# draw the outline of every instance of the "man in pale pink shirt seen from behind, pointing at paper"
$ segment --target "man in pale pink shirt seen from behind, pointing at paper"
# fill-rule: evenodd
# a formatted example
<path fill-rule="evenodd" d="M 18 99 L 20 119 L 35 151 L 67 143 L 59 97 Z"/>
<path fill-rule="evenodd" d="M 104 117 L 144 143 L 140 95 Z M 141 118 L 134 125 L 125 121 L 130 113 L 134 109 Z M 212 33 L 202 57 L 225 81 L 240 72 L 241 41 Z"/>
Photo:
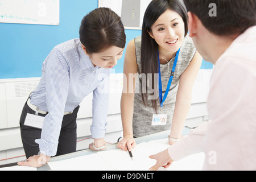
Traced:
<path fill-rule="evenodd" d="M 151 159 L 172 162 L 205 153 L 204 170 L 256 170 L 256 0 L 184 0 L 189 36 L 214 64 L 207 101 L 211 121 Z"/>

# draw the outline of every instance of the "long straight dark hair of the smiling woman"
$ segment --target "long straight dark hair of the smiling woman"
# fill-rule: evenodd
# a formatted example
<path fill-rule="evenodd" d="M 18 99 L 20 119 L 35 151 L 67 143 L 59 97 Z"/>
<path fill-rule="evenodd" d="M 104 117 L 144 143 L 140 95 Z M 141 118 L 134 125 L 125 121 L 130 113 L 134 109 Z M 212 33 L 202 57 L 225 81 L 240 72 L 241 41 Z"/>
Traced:
<path fill-rule="evenodd" d="M 181 16 L 184 22 L 185 35 L 188 33 L 188 16 L 185 7 L 180 2 L 180 0 L 153 0 L 150 5 L 148 5 L 146 12 L 144 14 L 143 24 L 142 24 L 142 43 L 141 43 L 141 64 L 142 73 L 148 76 L 148 73 L 158 73 L 158 44 L 155 39 L 152 39 L 148 32 L 151 32 L 152 24 L 156 22 L 160 15 L 162 15 L 167 9 L 175 11 Z M 152 86 L 154 89 L 154 76 L 152 76 Z M 147 89 L 147 86 L 146 86 Z M 155 89 L 154 89 L 155 90 Z M 147 92 L 141 93 L 144 105 L 147 105 Z M 157 102 L 159 100 L 151 100 L 151 104 L 157 111 Z"/>

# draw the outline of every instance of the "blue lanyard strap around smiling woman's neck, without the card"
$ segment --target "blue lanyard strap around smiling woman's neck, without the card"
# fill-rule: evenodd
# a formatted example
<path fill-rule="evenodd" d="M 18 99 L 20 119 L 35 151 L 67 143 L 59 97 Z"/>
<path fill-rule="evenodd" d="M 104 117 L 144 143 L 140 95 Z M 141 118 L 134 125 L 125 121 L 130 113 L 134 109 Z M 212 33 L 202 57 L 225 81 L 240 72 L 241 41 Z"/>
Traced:
<path fill-rule="evenodd" d="M 175 72 L 175 68 L 176 68 L 176 64 L 177 64 L 177 59 L 179 57 L 179 53 L 180 53 L 180 48 L 176 53 L 175 56 L 175 61 L 174 61 L 174 65 L 172 66 L 172 72 L 171 72 L 171 76 L 170 79 L 168 81 L 168 85 L 166 88 L 166 92 L 164 93 L 164 97 L 163 97 L 163 89 L 162 89 L 162 80 L 161 80 L 161 72 L 160 72 L 160 59 L 159 59 L 159 52 L 158 52 L 158 73 L 159 73 L 159 77 L 158 77 L 158 81 L 159 81 L 159 101 L 160 101 L 160 107 L 162 109 L 163 107 L 163 103 L 166 100 L 166 97 L 168 95 L 168 92 L 170 90 L 171 84 L 172 84 L 172 78 L 174 77 L 174 72 Z"/>

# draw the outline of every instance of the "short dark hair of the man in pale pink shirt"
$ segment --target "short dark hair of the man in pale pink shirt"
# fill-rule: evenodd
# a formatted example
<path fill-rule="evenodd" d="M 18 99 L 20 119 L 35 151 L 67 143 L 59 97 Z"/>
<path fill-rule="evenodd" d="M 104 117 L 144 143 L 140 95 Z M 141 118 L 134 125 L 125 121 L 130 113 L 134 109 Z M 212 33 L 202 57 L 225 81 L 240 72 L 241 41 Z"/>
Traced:
<path fill-rule="evenodd" d="M 233 36 L 256 25 L 256 0 L 184 0 L 188 11 L 198 16 L 213 34 Z M 209 15 L 216 5 L 216 15 Z"/>

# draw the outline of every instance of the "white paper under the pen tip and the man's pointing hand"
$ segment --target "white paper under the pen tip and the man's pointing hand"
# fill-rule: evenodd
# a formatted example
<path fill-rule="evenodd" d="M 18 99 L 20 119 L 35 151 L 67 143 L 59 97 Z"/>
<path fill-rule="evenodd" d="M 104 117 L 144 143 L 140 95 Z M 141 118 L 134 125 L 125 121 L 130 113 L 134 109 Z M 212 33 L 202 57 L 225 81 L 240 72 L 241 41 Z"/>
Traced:
<path fill-rule="evenodd" d="M 147 143 L 143 142 L 141 144 L 137 144 L 135 149 L 132 151 L 134 160 L 131 160 L 128 152 L 119 149 L 113 151 L 102 151 L 98 152 L 98 154 L 119 171 L 147 171 L 156 163 L 156 160 L 150 159 L 149 156 L 166 150 L 168 147 L 170 147 L 168 139 L 152 140 Z M 159 170 L 201 171 L 203 163 L 204 153 L 202 152 L 173 162 L 167 169 L 160 168 Z"/>

